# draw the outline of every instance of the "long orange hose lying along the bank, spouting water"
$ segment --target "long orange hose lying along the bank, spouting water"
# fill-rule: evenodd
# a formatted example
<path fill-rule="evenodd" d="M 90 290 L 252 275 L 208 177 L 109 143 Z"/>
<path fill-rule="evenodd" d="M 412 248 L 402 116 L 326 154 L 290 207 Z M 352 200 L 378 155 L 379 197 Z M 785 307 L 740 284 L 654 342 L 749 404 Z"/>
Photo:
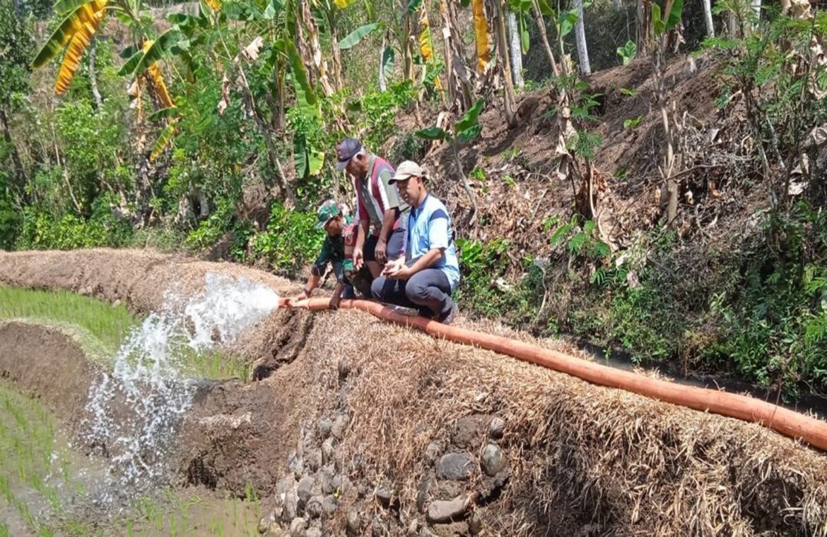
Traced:
<path fill-rule="evenodd" d="M 280 306 L 319 311 L 329 308 L 329 300 L 327 298 L 310 298 L 293 302 L 282 299 Z M 500 354 L 508 354 L 516 359 L 574 375 L 600 386 L 616 387 L 646 397 L 653 397 L 663 402 L 688 406 L 699 411 L 709 411 L 721 416 L 753 421 L 782 435 L 802 440 L 806 444 L 827 451 L 827 423 L 753 397 L 718 392 L 702 387 L 683 386 L 658 380 L 657 378 L 644 377 L 622 369 L 578 359 L 551 349 L 543 349 L 522 341 L 509 340 L 509 338 L 499 335 L 484 334 L 458 326 L 446 326 L 420 316 L 406 316 L 378 302 L 342 300 L 339 307 L 367 311 L 371 315 L 397 325 L 413 326 L 427 334 L 445 340 L 493 350 Z"/>

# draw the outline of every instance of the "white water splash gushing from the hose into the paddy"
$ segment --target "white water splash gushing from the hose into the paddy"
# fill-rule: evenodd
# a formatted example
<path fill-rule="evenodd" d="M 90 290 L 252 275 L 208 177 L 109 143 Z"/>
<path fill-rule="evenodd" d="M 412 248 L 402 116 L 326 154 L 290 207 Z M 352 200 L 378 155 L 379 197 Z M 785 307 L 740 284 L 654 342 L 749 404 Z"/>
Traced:
<path fill-rule="evenodd" d="M 278 304 L 270 288 L 217 273 L 185 303 L 166 293 L 161 310 L 128 335 L 112 373 L 90 388 L 85 440 L 110 459 L 110 485 L 141 491 L 167 475 L 175 432 L 197 387 L 179 370 L 181 354 L 231 344 Z"/>

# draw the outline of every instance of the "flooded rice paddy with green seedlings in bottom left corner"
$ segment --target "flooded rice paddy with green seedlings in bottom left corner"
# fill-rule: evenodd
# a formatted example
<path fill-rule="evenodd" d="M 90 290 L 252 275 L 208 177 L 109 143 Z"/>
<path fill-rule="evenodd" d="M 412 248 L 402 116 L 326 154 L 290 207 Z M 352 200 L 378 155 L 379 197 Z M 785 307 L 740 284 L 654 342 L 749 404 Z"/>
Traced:
<path fill-rule="evenodd" d="M 72 449 L 40 402 L 0 381 L 0 536 L 257 535 L 256 493 L 246 500 L 163 489 L 117 505 L 108 461 Z"/>

